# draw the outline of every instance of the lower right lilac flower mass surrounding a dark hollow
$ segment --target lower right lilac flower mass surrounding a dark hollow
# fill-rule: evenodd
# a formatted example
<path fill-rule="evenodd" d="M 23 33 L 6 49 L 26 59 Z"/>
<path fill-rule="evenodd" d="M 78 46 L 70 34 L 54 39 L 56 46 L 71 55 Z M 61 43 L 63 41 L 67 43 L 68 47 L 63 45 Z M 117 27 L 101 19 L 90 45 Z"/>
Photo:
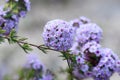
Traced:
<path fill-rule="evenodd" d="M 94 80 L 110 80 L 114 72 L 120 72 L 120 61 L 111 49 L 91 41 L 79 50 L 81 53 L 76 55 L 77 64 L 73 70 L 77 79 L 93 77 Z"/>

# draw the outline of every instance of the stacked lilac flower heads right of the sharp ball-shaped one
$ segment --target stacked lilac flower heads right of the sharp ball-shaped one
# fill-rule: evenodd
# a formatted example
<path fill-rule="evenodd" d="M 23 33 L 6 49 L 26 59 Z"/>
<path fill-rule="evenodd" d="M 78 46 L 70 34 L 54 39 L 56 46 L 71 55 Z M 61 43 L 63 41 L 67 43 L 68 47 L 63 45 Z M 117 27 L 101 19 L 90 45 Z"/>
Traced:
<path fill-rule="evenodd" d="M 73 75 L 76 79 L 92 77 L 94 80 L 110 80 L 114 72 L 119 72 L 118 56 L 99 44 L 102 29 L 95 23 L 81 24 L 76 29 L 75 40 L 70 54 L 75 55 Z"/>

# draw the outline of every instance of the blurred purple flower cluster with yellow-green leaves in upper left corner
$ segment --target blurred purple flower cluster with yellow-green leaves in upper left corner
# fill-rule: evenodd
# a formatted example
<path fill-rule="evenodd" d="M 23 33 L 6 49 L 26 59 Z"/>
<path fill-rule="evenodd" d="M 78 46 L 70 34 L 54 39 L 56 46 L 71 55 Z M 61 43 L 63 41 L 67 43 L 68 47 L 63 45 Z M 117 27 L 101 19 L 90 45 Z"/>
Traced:
<path fill-rule="evenodd" d="M 12 1 L 12 4 L 10 3 Z M 6 0 L 6 3 L 9 5 L 15 5 L 14 7 L 1 6 L 0 7 L 0 28 L 5 30 L 5 33 L 2 35 L 9 35 L 11 30 L 14 29 L 17 31 L 18 22 L 20 17 L 25 17 L 27 11 L 30 10 L 30 1 L 29 0 Z M 17 12 L 14 12 L 17 11 Z"/>

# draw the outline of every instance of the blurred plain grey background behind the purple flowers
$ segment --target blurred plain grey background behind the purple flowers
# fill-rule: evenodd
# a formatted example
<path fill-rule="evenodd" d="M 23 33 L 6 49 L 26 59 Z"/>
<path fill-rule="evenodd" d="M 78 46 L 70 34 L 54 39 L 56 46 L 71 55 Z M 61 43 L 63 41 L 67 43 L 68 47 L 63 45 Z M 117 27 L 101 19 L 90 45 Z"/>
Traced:
<path fill-rule="evenodd" d="M 0 5 L 4 2 L 0 0 Z M 27 37 L 28 42 L 43 44 L 41 34 L 49 20 L 59 18 L 70 21 L 86 16 L 103 29 L 103 47 L 111 48 L 120 56 L 120 0 L 31 0 L 31 5 L 31 11 L 21 19 L 18 30 L 18 35 Z M 58 73 L 59 68 L 65 69 L 67 66 L 58 57 L 59 53 L 50 51 L 46 55 L 38 49 L 34 49 L 33 53 L 38 54 L 45 66 L 55 73 Z M 0 44 L 0 76 L 14 73 L 25 60 L 26 53 L 18 45 L 9 45 L 7 41 Z M 66 79 L 59 74 L 58 80 Z M 114 74 L 111 80 L 120 80 L 120 77 Z"/>

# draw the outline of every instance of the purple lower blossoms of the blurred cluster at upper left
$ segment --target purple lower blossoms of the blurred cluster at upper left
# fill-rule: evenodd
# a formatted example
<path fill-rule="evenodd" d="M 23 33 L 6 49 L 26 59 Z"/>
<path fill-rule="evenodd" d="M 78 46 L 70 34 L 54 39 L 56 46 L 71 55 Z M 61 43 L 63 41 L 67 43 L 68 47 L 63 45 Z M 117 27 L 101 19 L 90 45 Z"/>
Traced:
<path fill-rule="evenodd" d="M 4 7 L 0 7 L 0 27 L 5 30 L 4 35 L 9 35 L 12 29 L 17 31 L 19 19 L 14 14 L 12 17 L 7 18 L 7 13 L 10 10 L 4 11 L 3 9 Z"/>

